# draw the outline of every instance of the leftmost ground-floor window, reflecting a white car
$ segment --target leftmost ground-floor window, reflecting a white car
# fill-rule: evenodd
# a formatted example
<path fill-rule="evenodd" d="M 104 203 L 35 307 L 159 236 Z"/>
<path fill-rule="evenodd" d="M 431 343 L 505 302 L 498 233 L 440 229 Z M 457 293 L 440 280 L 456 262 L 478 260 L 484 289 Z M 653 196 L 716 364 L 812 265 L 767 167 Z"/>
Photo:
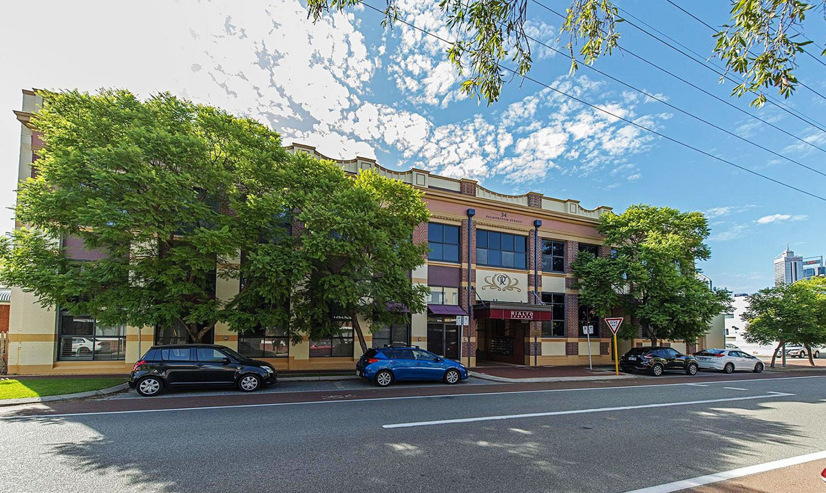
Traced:
<path fill-rule="evenodd" d="M 126 359 L 126 326 L 100 325 L 90 315 L 59 310 L 59 361 Z"/>

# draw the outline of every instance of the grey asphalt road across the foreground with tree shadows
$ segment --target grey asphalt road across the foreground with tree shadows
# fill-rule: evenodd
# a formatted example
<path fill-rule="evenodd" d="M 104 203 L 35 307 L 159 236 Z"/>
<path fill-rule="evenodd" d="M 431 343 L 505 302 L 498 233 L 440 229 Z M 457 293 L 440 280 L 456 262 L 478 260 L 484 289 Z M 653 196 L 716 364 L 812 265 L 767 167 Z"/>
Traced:
<path fill-rule="evenodd" d="M 826 449 L 823 374 L 304 386 L 0 410 L 0 491 L 621 492 Z"/>

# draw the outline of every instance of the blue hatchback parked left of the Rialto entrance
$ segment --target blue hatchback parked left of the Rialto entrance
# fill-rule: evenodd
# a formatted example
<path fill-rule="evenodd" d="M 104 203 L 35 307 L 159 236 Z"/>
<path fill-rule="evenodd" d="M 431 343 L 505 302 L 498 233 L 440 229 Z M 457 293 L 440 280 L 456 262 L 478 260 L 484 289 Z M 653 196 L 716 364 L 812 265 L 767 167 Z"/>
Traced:
<path fill-rule="evenodd" d="M 356 375 L 377 386 L 411 380 L 441 380 L 453 384 L 468 378 L 468 368 L 415 346 L 387 346 L 368 349 L 356 363 Z"/>

